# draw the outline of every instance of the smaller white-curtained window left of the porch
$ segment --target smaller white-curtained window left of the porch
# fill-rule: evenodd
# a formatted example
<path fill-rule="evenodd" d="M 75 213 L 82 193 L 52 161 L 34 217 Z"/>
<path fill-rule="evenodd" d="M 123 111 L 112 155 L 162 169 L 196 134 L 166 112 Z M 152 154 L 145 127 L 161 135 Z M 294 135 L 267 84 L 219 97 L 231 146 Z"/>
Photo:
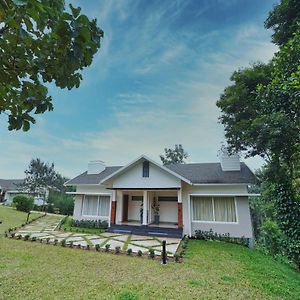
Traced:
<path fill-rule="evenodd" d="M 93 217 L 109 216 L 109 196 L 88 196 L 85 195 L 82 203 L 82 215 Z"/>

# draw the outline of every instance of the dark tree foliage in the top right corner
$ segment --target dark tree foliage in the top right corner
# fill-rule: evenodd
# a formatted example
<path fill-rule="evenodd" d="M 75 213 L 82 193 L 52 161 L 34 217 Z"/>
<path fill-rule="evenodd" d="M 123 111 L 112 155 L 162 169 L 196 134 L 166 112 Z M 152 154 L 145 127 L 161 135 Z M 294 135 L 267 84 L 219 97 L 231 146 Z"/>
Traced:
<path fill-rule="evenodd" d="M 300 1 L 282 0 L 269 12 L 265 27 L 273 29 L 273 42 L 279 46 L 284 45 L 293 33 L 296 32 L 300 22 Z"/>

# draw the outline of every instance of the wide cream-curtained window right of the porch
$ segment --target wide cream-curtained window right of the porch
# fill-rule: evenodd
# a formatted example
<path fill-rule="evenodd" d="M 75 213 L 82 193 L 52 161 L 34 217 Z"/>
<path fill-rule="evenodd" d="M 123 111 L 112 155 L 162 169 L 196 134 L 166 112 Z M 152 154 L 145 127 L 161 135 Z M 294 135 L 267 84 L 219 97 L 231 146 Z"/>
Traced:
<path fill-rule="evenodd" d="M 192 197 L 194 221 L 230 222 L 237 221 L 233 197 Z"/>

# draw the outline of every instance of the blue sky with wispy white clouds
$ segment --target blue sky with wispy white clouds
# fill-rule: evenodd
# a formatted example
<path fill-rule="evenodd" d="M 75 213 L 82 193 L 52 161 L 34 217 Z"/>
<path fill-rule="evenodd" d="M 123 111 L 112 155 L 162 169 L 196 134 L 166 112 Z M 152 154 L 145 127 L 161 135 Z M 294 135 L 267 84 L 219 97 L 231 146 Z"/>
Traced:
<path fill-rule="evenodd" d="M 22 178 L 32 158 L 74 177 L 90 160 L 159 161 L 182 144 L 188 162 L 218 161 L 216 107 L 233 71 L 277 51 L 263 23 L 275 0 L 72 1 L 104 30 L 78 89 L 49 87 L 54 111 L 29 132 L 0 115 L 0 178 Z M 252 170 L 260 158 L 243 159 Z"/>

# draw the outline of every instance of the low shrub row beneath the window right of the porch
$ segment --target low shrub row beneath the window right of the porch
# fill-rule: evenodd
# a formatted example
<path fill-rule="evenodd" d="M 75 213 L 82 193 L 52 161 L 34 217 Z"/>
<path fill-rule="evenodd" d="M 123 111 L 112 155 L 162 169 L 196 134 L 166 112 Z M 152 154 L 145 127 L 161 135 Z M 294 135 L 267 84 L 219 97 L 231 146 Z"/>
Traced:
<path fill-rule="evenodd" d="M 209 231 L 204 230 L 195 230 L 195 236 L 197 240 L 204 240 L 204 241 L 222 241 L 227 243 L 238 244 L 242 246 L 248 245 L 248 240 L 245 237 L 236 238 L 231 237 L 229 233 L 220 234 L 214 232 L 212 229 Z"/>

